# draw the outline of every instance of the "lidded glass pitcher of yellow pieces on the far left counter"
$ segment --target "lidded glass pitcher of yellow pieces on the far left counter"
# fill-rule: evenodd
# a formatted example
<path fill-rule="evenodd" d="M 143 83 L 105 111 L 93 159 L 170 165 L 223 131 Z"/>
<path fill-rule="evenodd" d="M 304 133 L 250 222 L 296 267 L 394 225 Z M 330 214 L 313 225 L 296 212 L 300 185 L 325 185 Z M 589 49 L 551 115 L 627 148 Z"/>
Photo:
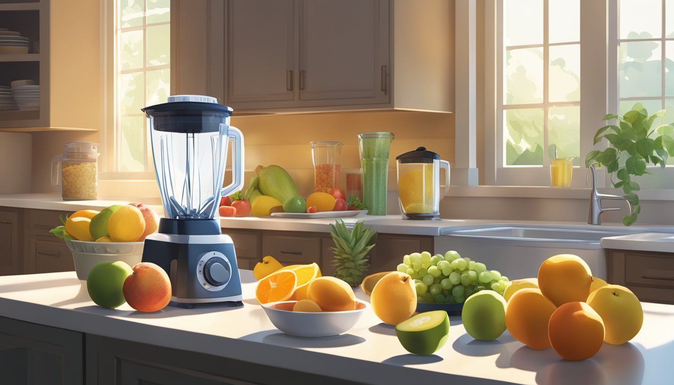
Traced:
<path fill-rule="evenodd" d="M 70 142 L 51 160 L 51 184 L 63 200 L 98 199 L 98 143 Z"/>

